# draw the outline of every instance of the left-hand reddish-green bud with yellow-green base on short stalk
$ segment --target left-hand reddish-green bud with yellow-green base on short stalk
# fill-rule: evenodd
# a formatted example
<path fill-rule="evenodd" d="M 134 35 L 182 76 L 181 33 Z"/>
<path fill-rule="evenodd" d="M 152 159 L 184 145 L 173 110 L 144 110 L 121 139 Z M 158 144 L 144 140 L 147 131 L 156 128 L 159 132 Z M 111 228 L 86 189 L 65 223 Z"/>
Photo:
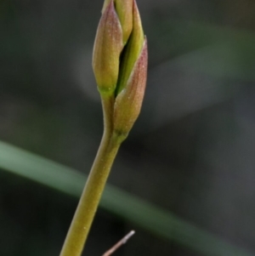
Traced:
<path fill-rule="evenodd" d="M 114 93 L 122 48 L 122 26 L 111 0 L 99 21 L 94 43 L 93 69 L 100 94 Z"/>

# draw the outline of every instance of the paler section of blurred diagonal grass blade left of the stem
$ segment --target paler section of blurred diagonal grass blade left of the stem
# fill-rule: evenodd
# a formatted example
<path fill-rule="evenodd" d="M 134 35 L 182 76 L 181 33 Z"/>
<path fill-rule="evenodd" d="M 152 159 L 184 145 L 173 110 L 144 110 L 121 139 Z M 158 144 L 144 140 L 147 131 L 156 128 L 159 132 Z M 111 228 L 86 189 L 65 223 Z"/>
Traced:
<path fill-rule="evenodd" d="M 80 196 L 87 176 L 75 169 L 0 141 L 0 168 L 71 196 Z"/>

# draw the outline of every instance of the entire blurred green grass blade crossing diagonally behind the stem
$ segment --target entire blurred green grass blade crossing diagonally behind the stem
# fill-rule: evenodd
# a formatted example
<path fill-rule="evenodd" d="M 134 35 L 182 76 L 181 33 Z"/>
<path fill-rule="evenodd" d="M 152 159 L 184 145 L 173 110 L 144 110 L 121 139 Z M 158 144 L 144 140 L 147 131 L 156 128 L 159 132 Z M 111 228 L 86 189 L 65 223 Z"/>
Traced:
<path fill-rule="evenodd" d="M 2 141 L 0 141 L 0 168 L 77 197 L 81 195 L 87 178 L 75 169 Z M 163 236 L 203 255 L 253 255 L 112 185 L 106 186 L 100 206 L 158 236 Z"/>

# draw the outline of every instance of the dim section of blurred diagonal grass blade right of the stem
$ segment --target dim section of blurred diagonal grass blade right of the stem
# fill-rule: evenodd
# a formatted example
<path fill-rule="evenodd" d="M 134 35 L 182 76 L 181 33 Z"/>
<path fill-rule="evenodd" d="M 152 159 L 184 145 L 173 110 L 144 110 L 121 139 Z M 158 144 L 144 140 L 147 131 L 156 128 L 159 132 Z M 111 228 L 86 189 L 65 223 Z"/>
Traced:
<path fill-rule="evenodd" d="M 111 212 L 202 255 L 253 255 L 241 247 L 231 245 L 218 236 L 178 218 L 173 213 L 157 208 L 153 204 L 144 202 L 138 197 L 117 190 L 112 186 L 105 190 L 103 199 L 101 205 Z"/>

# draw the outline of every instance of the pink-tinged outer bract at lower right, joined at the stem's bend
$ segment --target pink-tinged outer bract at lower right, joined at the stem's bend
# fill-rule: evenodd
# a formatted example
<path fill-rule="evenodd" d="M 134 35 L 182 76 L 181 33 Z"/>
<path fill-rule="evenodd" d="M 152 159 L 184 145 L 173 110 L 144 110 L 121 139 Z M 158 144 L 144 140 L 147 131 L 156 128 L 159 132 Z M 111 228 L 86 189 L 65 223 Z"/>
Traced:
<path fill-rule="evenodd" d="M 133 127 L 133 123 L 139 116 L 144 99 L 144 89 L 147 78 L 148 51 L 147 40 L 144 39 L 143 48 L 139 58 L 133 66 L 131 76 L 122 92 L 116 96 L 114 105 L 114 131 L 123 139 Z"/>

